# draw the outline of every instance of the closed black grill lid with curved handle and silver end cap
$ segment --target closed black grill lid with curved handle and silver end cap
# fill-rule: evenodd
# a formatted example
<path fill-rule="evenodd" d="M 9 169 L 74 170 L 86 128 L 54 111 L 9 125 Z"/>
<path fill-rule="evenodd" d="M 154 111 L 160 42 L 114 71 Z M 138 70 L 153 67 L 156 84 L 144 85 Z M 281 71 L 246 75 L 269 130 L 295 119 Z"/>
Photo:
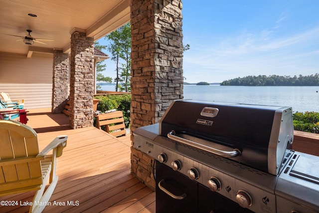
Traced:
<path fill-rule="evenodd" d="M 160 135 L 278 175 L 293 142 L 291 107 L 175 101 Z"/>

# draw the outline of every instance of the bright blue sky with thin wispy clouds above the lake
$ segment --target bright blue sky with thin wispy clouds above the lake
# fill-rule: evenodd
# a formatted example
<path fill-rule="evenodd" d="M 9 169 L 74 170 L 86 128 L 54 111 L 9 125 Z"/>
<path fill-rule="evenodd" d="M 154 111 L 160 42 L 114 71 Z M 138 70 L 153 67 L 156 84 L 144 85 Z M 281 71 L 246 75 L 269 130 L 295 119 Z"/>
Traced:
<path fill-rule="evenodd" d="M 319 0 L 182 2 L 185 82 L 319 73 Z M 105 63 L 114 78 L 115 62 Z"/>

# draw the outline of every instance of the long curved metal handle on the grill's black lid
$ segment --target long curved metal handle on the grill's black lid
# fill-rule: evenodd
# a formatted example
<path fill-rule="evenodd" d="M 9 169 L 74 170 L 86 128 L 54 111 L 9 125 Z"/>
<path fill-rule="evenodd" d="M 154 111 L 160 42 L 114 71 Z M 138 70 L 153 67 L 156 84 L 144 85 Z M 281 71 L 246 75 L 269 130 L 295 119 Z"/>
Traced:
<path fill-rule="evenodd" d="M 177 141 L 179 143 L 186 144 L 188 146 L 195 147 L 195 148 L 204 150 L 206 152 L 209 152 L 209 153 L 212 153 L 212 154 L 224 157 L 224 158 L 234 158 L 234 157 L 240 156 L 240 154 L 241 154 L 239 149 L 234 149 L 233 151 L 218 150 L 218 149 L 214 149 L 212 147 L 205 146 L 203 144 L 196 143 L 194 141 L 190 141 L 190 140 L 175 136 L 175 134 L 176 134 L 175 131 L 172 130 L 171 132 L 167 133 L 167 137 L 169 139 Z"/>

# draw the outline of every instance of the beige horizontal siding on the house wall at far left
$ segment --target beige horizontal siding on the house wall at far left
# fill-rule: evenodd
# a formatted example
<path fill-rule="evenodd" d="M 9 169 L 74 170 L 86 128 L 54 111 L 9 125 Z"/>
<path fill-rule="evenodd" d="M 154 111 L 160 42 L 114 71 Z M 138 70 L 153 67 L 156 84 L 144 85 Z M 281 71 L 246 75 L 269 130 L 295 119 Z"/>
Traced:
<path fill-rule="evenodd" d="M 53 54 L 0 52 L 0 92 L 24 99 L 27 109 L 51 107 Z M 27 74 L 26 74 L 27 73 Z"/>

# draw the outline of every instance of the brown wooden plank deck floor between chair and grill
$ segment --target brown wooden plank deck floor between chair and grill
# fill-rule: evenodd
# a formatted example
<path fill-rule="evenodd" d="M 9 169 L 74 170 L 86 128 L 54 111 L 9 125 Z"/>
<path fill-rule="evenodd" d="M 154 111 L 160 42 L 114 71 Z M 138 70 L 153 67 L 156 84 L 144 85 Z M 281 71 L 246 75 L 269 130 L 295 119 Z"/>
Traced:
<path fill-rule="evenodd" d="M 73 130 L 64 114 L 29 111 L 27 124 L 38 133 L 40 150 L 56 136 L 68 135 L 58 158 L 59 180 L 43 212 L 155 213 L 155 193 L 131 175 L 130 135 L 115 138 L 95 127 Z M 0 206 L 0 213 L 28 212 L 20 202 L 31 202 L 34 193 L 1 197 L 18 205 Z"/>

